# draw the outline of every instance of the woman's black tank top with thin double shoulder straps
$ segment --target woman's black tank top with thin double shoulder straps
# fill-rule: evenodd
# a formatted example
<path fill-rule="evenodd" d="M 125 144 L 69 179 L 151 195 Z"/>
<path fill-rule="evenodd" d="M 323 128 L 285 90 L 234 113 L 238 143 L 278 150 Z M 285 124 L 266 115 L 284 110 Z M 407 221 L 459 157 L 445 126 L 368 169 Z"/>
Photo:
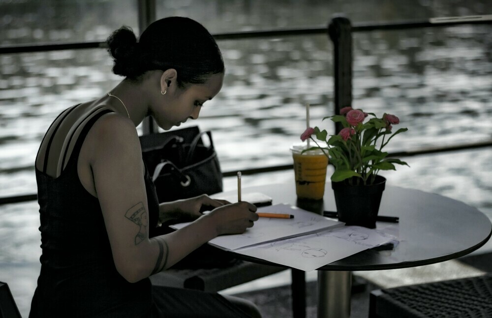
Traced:
<path fill-rule="evenodd" d="M 30 318 L 150 315 L 149 278 L 132 284 L 118 273 L 99 201 L 83 187 L 77 173 L 85 137 L 94 122 L 109 112 L 104 110 L 87 122 L 60 176 L 53 178 L 36 169 L 42 255 Z M 147 168 L 145 185 L 153 229 L 158 201 Z"/>

